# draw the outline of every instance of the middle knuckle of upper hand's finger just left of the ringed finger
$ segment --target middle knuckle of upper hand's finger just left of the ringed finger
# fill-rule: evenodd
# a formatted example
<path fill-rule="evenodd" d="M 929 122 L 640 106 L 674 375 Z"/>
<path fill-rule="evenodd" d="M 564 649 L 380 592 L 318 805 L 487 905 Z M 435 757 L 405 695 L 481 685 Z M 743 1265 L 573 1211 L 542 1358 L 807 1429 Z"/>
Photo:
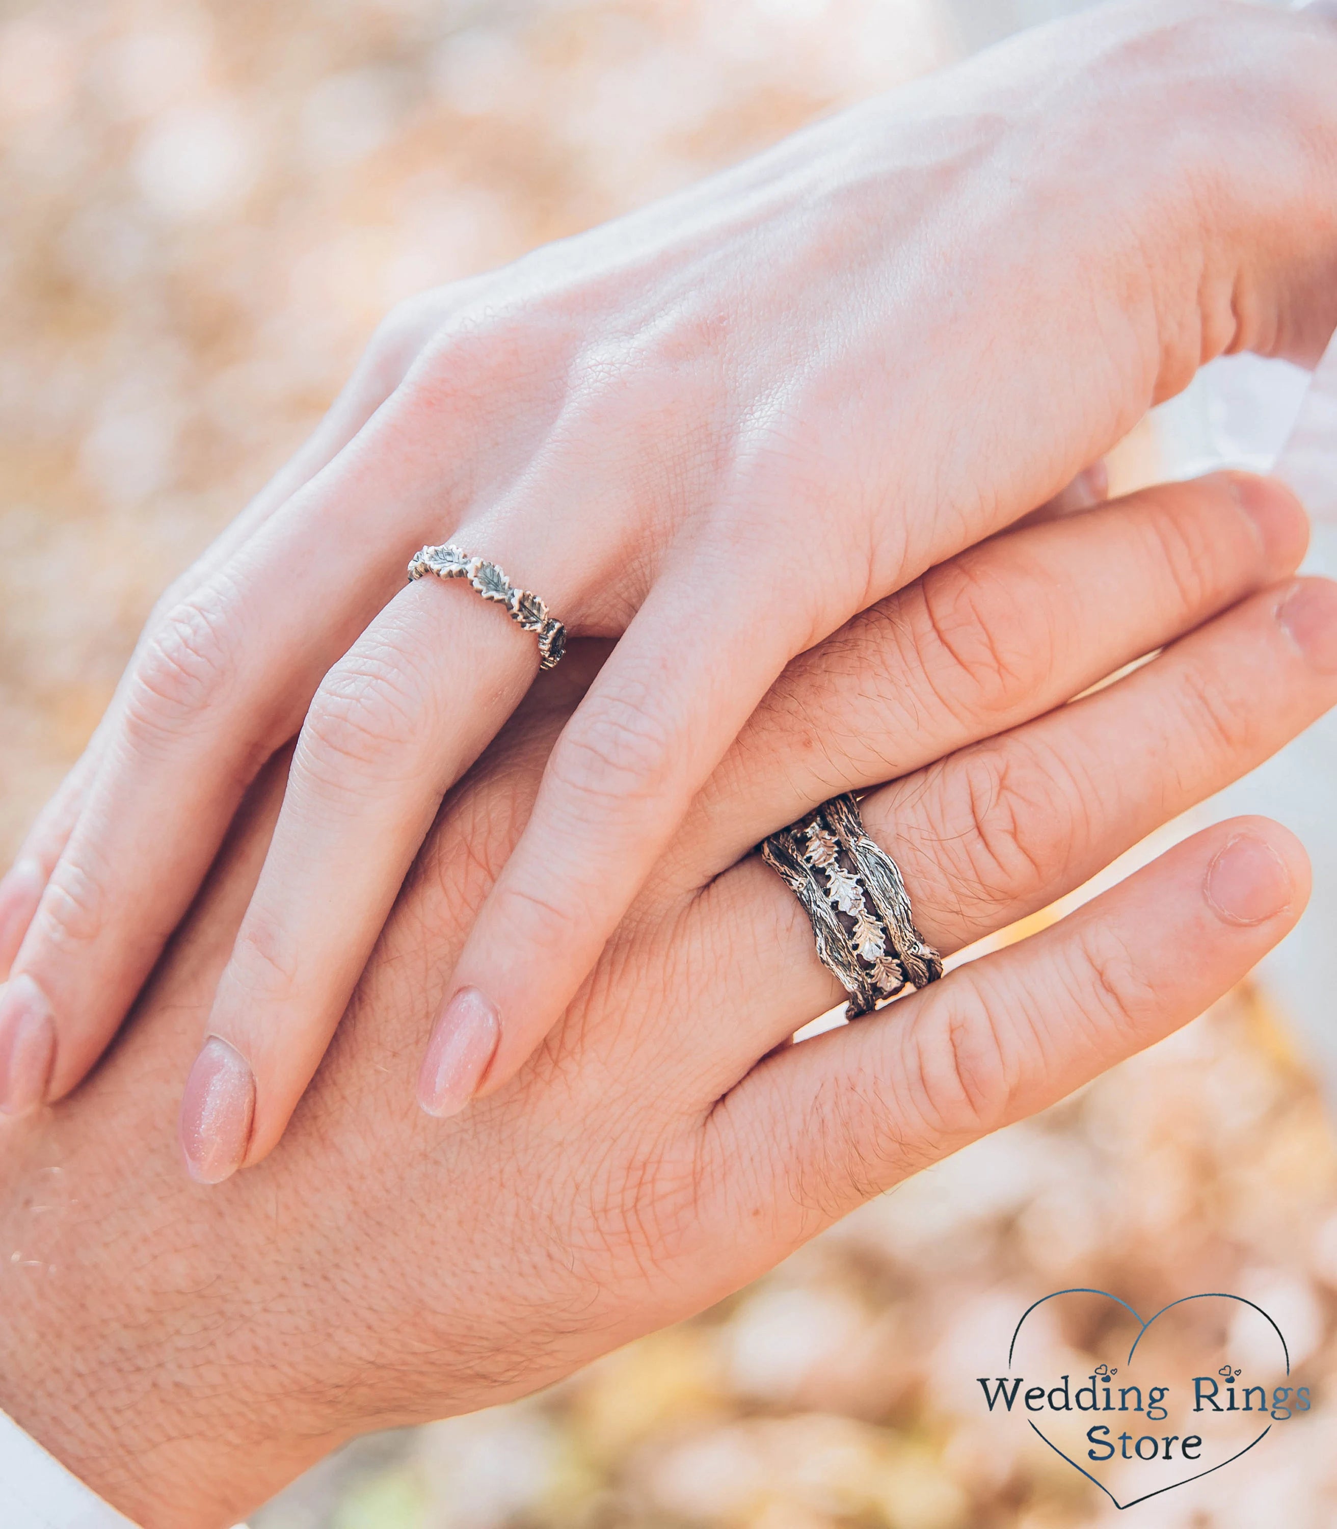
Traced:
<path fill-rule="evenodd" d="M 214 703 L 234 673 L 222 605 L 200 595 L 173 605 L 134 665 L 125 719 L 133 737 L 176 732 Z"/>

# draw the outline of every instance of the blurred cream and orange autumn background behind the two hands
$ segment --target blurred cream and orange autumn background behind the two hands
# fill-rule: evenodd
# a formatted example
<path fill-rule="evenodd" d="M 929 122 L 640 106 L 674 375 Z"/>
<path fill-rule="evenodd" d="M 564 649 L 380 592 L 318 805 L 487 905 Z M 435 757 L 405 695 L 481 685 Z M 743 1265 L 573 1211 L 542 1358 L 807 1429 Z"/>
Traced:
<path fill-rule="evenodd" d="M 0 862 L 156 593 L 393 301 L 1071 8 L 3 0 Z M 1148 420 L 1115 486 L 1274 450 L 1303 379 L 1259 367 L 1215 368 Z M 1268 780 L 1302 832 L 1337 821 L 1313 769 Z M 1089 1483 L 970 1394 L 1016 1315 L 1071 1284 L 1143 1310 L 1248 1295 L 1319 1388 L 1274 1448 L 1146 1505 L 1144 1526 L 1332 1523 L 1331 928 L 1311 916 L 1274 974 L 724 1306 L 527 1402 L 362 1440 L 252 1529 L 1105 1524 Z"/>

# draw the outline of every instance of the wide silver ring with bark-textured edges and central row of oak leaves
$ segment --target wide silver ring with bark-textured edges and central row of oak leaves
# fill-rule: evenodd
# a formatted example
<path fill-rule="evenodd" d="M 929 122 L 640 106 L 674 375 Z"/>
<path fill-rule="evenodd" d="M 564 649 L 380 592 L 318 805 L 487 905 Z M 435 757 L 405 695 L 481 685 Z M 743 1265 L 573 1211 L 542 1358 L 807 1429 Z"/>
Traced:
<path fill-rule="evenodd" d="M 802 904 L 822 965 L 850 994 L 847 1018 L 943 976 L 943 957 L 915 928 L 900 868 L 868 836 L 854 797 L 833 797 L 772 833 L 761 858 Z"/>

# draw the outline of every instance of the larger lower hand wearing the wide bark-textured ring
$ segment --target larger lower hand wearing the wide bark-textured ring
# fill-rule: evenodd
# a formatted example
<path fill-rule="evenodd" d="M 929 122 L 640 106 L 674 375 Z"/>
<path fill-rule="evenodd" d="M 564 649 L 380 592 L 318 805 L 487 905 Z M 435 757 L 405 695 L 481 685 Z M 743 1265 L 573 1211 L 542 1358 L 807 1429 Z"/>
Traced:
<path fill-rule="evenodd" d="M 1303 546 L 1284 489 L 1227 476 L 995 538 L 880 602 L 767 694 L 516 1078 L 434 1119 L 411 1079 L 607 654 L 578 645 L 446 800 L 283 1148 L 206 1188 L 179 1168 L 177 1087 L 277 761 L 104 1064 L 5 1125 L 0 1407 L 147 1529 L 220 1529 L 356 1433 L 700 1310 L 1192 1018 L 1303 907 L 1303 852 L 1264 820 L 788 1047 L 839 994 L 750 846 L 889 780 L 865 821 L 932 942 L 1042 907 L 1337 700 L 1337 587 L 1291 576 Z"/>

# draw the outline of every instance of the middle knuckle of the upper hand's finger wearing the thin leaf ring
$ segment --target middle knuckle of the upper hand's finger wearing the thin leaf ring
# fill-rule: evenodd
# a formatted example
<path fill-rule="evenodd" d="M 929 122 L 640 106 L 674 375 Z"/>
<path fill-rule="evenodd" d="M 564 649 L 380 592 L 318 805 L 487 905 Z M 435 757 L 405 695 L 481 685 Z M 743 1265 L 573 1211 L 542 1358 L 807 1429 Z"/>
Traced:
<path fill-rule="evenodd" d="M 324 784 L 339 783 L 347 766 L 374 771 L 384 781 L 396 760 L 408 771 L 419 735 L 420 706 L 397 662 L 353 653 L 321 680 L 303 725 L 296 764 Z"/>

